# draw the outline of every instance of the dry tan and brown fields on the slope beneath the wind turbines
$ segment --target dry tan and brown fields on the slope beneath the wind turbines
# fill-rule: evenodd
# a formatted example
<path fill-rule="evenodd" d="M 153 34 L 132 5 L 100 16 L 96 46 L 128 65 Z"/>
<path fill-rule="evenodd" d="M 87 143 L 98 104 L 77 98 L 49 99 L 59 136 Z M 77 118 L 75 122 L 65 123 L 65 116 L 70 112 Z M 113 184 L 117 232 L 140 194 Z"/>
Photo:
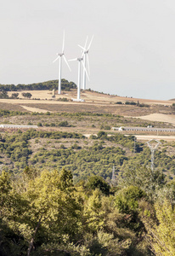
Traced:
<path fill-rule="evenodd" d="M 31 90 L 32 98 L 24 99 L 21 95 L 23 91 L 20 91 L 21 99 L 9 100 L 1 99 L 0 108 L 9 110 L 20 110 L 46 113 L 50 112 L 91 112 L 91 113 L 113 113 L 116 115 L 122 115 L 126 117 L 138 117 L 140 119 L 150 121 L 161 121 L 175 124 L 175 119 L 172 115 L 172 103 L 175 101 L 157 101 L 147 99 L 137 99 L 121 96 L 110 96 L 101 94 L 94 91 L 82 90 L 81 97 L 85 102 L 71 102 L 71 98 L 76 98 L 76 90 L 62 92 L 61 95 L 57 95 L 55 99 L 52 99 L 52 91 L 50 90 Z M 8 95 L 14 93 L 8 92 Z M 66 97 L 70 102 L 59 102 L 59 98 Z M 40 100 L 34 100 L 39 98 Z M 150 108 L 139 108 L 131 105 L 118 105 L 116 102 L 138 102 L 149 104 Z M 155 114 L 156 113 L 156 114 Z"/>

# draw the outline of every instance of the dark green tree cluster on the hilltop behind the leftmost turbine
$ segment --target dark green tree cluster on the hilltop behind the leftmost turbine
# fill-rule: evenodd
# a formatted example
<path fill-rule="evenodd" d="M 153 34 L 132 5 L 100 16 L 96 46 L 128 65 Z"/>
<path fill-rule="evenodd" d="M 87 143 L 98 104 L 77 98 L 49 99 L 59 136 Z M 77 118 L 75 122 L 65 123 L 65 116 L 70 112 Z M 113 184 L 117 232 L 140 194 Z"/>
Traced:
<path fill-rule="evenodd" d="M 50 80 L 42 83 L 35 84 L 0 84 L 0 91 L 16 91 L 16 90 L 57 90 L 59 80 Z M 76 88 L 76 84 L 69 82 L 65 79 L 61 79 L 61 89 L 71 90 Z"/>

